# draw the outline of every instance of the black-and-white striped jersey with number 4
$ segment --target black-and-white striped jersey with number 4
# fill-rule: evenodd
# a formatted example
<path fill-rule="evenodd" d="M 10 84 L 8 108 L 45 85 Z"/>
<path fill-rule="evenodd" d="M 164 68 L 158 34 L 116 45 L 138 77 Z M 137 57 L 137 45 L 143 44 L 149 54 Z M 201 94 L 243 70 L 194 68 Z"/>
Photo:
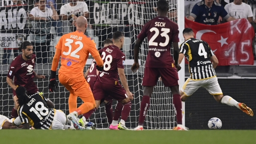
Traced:
<path fill-rule="evenodd" d="M 200 80 L 216 76 L 210 61 L 214 53 L 208 43 L 190 38 L 180 45 L 179 53 L 183 53 L 189 61 L 191 79 Z"/>

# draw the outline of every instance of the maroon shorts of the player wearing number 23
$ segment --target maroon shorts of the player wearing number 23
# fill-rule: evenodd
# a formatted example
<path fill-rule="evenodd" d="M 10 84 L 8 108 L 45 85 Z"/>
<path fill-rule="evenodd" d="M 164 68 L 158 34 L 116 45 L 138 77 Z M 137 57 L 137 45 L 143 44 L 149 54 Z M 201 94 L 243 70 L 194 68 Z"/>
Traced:
<path fill-rule="evenodd" d="M 156 86 L 161 76 L 164 86 L 178 86 L 178 72 L 175 68 L 145 67 L 142 86 Z"/>

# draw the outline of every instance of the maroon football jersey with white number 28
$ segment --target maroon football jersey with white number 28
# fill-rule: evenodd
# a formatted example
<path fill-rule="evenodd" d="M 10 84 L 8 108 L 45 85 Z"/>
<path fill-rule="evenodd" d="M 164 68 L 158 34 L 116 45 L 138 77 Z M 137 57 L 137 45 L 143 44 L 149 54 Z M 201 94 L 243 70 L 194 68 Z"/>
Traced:
<path fill-rule="evenodd" d="M 104 70 L 98 73 L 98 82 L 117 85 L 118 70 L 124 69 L 125 54 L 115 45 L 109 45 L 99 50 L 99 54 L 104 62 Z"/>

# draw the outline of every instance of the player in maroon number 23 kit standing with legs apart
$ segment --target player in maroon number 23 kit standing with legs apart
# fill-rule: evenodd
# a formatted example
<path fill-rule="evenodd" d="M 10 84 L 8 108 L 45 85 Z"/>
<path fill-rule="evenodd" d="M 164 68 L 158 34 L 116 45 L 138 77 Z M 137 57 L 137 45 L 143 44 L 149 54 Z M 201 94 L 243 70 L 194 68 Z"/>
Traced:
<path fill-rule="evenodd" d="M 139 47 L 145 37 L 148 39 L 148 55 L 145 63 L 143 83 L 144 93 L 141 102 L 139 125 L 135 130 L 143 130 L 146 112 L 149 109 L 150 98 L 154 86 L 157 85 L 159 76 L 164 86 L 171 88 L 173 103 L 176 109 L 177 127 L 174 130 L 187 130 L 182 126 L 181 100 L 179 95 L 178 73 L 178 26 L 167 18 L 168 3 L 166 0 L 157 2 L 158 16 L 147 22 L 134 44 L 134 64 L 132 72 L 139 69 L 138 55 Z M 171 55 L 171 45 L 173 43 L 173 56 Z"/>

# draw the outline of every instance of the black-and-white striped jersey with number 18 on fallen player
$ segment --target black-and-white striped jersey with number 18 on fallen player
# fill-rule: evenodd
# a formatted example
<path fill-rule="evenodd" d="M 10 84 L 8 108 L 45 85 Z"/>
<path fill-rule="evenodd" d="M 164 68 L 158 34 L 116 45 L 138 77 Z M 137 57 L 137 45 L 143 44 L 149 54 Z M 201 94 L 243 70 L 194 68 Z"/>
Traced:
<path fill-rule="evenodd" d="M 29 123 L 35 129 L 50 129 L 55 109 L 48 108 L 47 99 L 36 93 L 29 96 L 30 101 L 18 108 L 21 124 Z"/>

